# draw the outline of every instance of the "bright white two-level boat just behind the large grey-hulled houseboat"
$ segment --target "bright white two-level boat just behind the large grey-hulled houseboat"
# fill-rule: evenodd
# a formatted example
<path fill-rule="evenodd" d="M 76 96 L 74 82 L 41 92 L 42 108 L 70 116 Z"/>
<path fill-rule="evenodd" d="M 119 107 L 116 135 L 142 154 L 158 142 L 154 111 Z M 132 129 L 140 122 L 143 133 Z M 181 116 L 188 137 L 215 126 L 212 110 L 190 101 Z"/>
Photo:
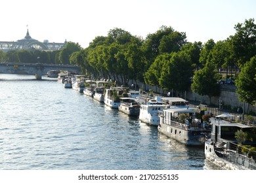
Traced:
<path fill-rule="evenodd" d="M 167 108 L 162 101 L 150 99 L 146 104 L 140 105 L 139 120 L 149 125 L 158 126 L 160 124 L 159 111 Z"/>

